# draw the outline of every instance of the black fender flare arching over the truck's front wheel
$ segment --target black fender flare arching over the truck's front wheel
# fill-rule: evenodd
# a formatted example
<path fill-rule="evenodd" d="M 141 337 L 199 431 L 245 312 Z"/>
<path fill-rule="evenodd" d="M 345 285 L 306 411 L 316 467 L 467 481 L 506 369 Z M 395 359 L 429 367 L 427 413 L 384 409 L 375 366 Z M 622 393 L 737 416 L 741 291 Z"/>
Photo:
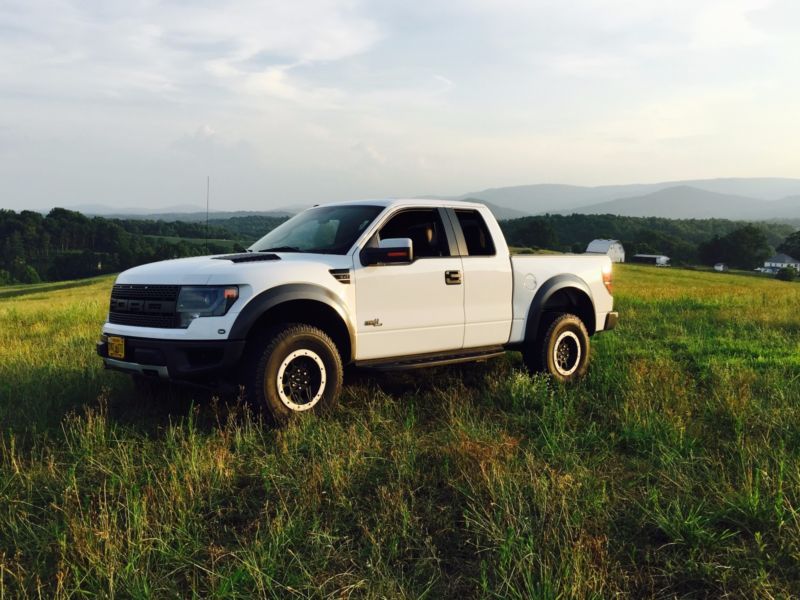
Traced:
<path fill-rule="evenodd" d="M 253 297 L 241 310 L 233 322 L 229 339 L 244 340 L 253 325 L 271 308 L 293 300 L 312 300 L 332 308 L 347 328 L 350 337 L 350 360 L 355 356 L 355 327 L 342 299 L 331 290 L 311 283 L 287 283 L 261 292 Z M 345 357 L 348 358 L 348 357 Z"/>

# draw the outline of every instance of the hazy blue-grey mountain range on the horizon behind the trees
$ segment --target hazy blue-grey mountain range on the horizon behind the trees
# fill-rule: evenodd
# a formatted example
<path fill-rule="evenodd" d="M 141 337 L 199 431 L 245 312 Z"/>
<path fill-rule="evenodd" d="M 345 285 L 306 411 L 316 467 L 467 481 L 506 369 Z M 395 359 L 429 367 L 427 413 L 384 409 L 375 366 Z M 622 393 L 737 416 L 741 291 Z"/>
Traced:
<path fill-rule="evenodd" d="M 535 184 L 490 188 L 447 198 L 484 202 L 498 219 L 515 219 L 544 213 L 608 213 L 673 219 L 773 220 L 793 224 L 800 220 L 800 179 L 788 178 L 692 179 L 596 187 Z M 267 211 L 212 211 L 211 217 L 283 217 L 295 214 L 303 208 L 306 207 L 288 206 Z M 71 209 L 88 215 L 129 219 L 202 221 L 206 218 L 203 208 L 196 205 L 169 206 L 158 211 L 120 209 L 98 204 L 75 206 Z"/>

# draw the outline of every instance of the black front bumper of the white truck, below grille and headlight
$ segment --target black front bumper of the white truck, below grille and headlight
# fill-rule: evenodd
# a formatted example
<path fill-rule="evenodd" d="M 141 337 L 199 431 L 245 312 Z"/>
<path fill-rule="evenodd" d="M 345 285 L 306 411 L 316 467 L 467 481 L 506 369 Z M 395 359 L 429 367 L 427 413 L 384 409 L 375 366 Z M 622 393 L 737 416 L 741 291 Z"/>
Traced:
<path fill-rule="evenodd" d="M 108 334 L 97 342 L 107 369 L 173 381 L 203 381 L 232 371 L 244 352 L 244 340 L 175 341 L 125 337 L 125 355 L 108 355 Z"/>

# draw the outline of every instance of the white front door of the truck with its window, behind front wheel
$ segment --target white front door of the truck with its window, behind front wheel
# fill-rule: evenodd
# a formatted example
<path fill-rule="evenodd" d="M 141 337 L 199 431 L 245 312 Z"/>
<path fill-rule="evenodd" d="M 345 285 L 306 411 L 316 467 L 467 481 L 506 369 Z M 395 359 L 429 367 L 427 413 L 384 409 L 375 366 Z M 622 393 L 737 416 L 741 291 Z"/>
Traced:
<path fill-rule="evenodd" d="M 446 216 L 446 215 L 445 215 Z M 410 264 L 364 266 L 354 257 L 356 359 L 456 351 L 464 343 L 464 285 L 454 240 L 436 208 L 399 209 L 367 245 L 410 238 Z"/>

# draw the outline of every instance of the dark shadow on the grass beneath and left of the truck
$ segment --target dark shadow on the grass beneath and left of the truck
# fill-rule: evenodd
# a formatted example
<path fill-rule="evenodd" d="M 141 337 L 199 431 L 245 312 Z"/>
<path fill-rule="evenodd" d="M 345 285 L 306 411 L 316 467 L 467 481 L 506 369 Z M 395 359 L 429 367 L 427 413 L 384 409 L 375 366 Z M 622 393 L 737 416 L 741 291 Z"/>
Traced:
<path fill-rule="evenodd" d="M 518 368 L 517 362 L 509 355 L 487 362 L 409 371 L 348 369 L 340 405 L 324 418 L 347 419 L 347 412 L 361 410 L 381 397 L 413 401 L 424 409 L 434 403 L 416 399 L 434 398 L 437 392 L 449 393 L 456 388 L 485 389 L 492 380 Z M 111 422 L 147 437 L 162 435 L 164 428 L 189 415 L 205 431 L 243 410 L 250 411 L 265 427 L 271 425 L 261 407 L 250 406 L 240 394 L 220 395 L 169 384 L 148 392 L 137 389 L 125 375 L 97 369 L 41 366 L 29 369 L 23 378 L 0 383 L 2 431 L 20 440 L 39 433 L 58 435 L 69 415 L 97 409 L 103 410 Z"/>

